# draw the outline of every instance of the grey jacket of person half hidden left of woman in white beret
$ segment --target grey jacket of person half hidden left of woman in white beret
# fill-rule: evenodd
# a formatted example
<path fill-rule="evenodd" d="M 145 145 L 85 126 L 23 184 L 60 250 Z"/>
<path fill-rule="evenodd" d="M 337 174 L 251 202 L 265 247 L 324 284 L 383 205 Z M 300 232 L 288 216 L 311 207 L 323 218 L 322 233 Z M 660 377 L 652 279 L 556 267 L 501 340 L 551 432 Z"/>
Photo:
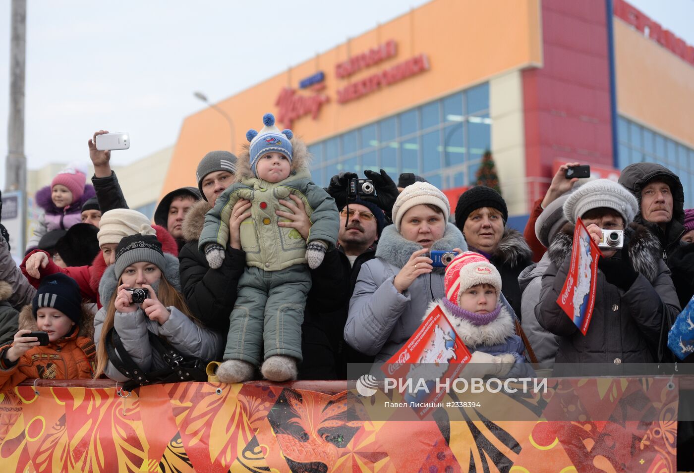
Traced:
<path fill-rule="evenodd" d="M 541 365 L 551 365 L 557 356 L 559 336 L 543 329 L 535 316 L 535 307 L 540 303 L 540 290 L 542 288 L 542 275 L 550 266 L 550 255 L 545 253 L 540 261 L 525 268 L 518 275 L 518 284 L 521 286 L 521 327 L 530 342 L 530 347 L 535 353 L 537 362 Z"/>

